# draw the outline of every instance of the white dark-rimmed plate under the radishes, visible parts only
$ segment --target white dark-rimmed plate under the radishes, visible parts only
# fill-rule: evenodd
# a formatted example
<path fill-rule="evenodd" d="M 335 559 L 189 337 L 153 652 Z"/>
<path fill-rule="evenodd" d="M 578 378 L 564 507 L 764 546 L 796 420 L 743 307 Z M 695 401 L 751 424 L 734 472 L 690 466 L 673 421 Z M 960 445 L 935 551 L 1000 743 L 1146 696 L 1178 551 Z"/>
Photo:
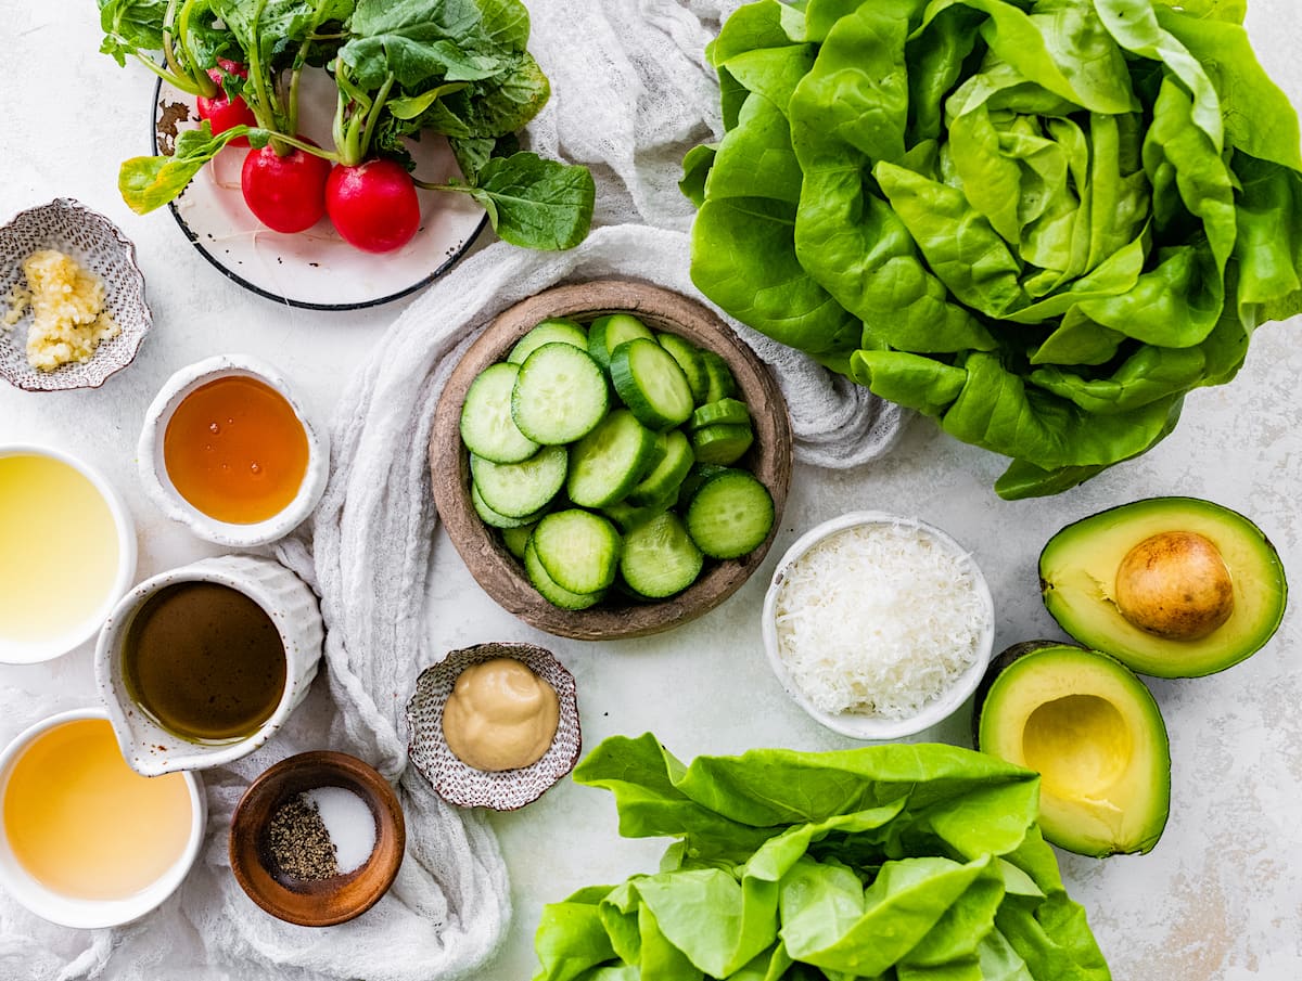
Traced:
<path fill-rule="evenodd" d="M 320 70 L 303 73 L 299 129 L 331 146 L 335 86 Z M 161 81 L 155 87 L 150 139 L 156 152 L 174 133 L 198 125 L 194 98 Z M 374 255 L 354 249 L 323 217 L 312 228 L 283 234 L 263 226 L 240 191 L 243 147 L 227 147 L 169 206 L 194 247 L 225 276 L 270 299 L 309 310 L 372 307 L 421 289 L 449 268 L 487 224 L 466 194 L 417 190 L 421 230 L 402 249 Z M 411 144 L 415 173 L 424 181 L 461 177 L 443 137 Z"/>

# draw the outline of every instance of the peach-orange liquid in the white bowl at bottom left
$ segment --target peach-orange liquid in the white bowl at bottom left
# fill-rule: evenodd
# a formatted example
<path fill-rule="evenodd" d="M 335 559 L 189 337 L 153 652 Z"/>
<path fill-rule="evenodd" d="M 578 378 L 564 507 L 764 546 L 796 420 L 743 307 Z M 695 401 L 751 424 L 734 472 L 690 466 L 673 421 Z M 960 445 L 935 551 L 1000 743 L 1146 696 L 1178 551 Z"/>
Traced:
<path fill-rule="evenodd" d="M 126 899 L 156 882 L 185 853 L 193 817 L 185 777 L 141 777 L 103 718 L 35 736 L 4 788 L 14 859 L 74 899 Z"/>

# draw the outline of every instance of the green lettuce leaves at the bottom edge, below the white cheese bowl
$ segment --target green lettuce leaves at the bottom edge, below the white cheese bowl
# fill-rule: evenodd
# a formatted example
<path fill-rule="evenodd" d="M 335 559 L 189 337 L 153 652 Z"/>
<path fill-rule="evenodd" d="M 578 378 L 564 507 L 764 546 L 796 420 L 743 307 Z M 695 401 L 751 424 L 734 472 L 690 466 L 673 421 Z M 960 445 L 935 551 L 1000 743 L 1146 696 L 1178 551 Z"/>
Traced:
<path fill-rule="evenodd" d="M 755 749 L 684 766 L 651 734 L 574 779 L 660 872 L 544 908 L 535 981 L 1108 981 L 1036 825 L 1039 777 L 949 746 Z"/>

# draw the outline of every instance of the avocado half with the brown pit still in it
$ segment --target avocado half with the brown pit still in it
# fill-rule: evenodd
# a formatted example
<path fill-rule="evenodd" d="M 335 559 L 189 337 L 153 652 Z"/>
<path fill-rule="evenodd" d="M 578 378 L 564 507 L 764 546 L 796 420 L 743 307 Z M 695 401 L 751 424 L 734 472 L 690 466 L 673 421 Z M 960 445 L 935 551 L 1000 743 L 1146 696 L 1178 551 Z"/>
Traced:
<path fill-rule="evenodd" d="M 1217 570 L 1189 563 L 1187 576 L 1172 580 L 1160 610 L 1165 618 L 1137 626 L 1118 605 L 1118 571 L 1124 563 L 1160 566 L 1151 543 L 1177 539 L 1210 543 Z M 1186 613 L 1180 604 L 1197 605 L 1216 589 L 1219 609 L 1180 636 Z M 1040 593 L 1053 619 L 1086 647 L 1141 674 L 1197 678 L 1238 664 L 1271 639 L 1284 618 L 1288 582 L 1275 546 L 1243 515 L 1193 497 L 1152 497 L 1090 515 L 1049 539 L 1040 553 Z"/>

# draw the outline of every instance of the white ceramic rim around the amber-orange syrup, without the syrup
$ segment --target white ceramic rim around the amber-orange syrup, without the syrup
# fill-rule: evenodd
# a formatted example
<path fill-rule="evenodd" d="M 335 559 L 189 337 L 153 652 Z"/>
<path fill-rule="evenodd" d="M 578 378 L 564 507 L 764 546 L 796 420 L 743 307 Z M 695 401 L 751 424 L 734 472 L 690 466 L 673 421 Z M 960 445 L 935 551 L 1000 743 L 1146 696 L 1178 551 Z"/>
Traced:
<path fill-rule="evenodd" d="M 186 501 L 172 484 L 163 459 L 163 437 L 172 414 L 181 401 L 210 381 L 232 376 L 254 379 L 279 392 L 294 410 L 307 435 L 307 471 L 298 494 L 283 511 L 255 524 L 232 524 L 212 518 Z M 201 539 L 228 548 L 253 548 L 284 537 L 312 513 L 326 492 L 329 476 L 329 441 L 323 429 L 312 425 L 285 377 L 276 368 L 245 354 L 220 354 L 176 372 L 159 390 L 145 412 L 145 425 L 135 454 L 145 492 L 163 513 L 189 526 Z"/>

